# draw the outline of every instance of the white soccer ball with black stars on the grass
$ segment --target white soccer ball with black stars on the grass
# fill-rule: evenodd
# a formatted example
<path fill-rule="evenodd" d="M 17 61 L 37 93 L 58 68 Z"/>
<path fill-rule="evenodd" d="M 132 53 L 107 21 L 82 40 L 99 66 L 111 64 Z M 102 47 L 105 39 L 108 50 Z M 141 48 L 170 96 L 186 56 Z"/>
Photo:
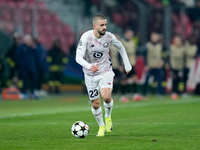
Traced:
<path fill-rule="evenodd" d="M 77 121 L 72 125 L 71 132 L 76 138 L 84 138 L 89 133 L 89 126 L 83 121 Z"/>

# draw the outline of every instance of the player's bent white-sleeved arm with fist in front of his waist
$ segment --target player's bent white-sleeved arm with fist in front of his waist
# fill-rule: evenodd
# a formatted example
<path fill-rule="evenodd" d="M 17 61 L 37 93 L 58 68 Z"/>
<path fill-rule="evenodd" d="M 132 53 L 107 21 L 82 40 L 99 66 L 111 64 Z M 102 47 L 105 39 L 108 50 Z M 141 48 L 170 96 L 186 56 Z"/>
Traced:
<path fill-rule="evenodd" d="M 99 67 L 96 65 L 89 64 L 85 59 L 85 51 L 86 51 L 86 45 L 87 45 L 87 35 L 83 34 L 81 36 L 81 39 L 78 43 L 78 47 L 76 50 L 76 62 L 80 64 L 81 66 L 91 70 L 92 72 L 96 72 L 99 70 Z"/>

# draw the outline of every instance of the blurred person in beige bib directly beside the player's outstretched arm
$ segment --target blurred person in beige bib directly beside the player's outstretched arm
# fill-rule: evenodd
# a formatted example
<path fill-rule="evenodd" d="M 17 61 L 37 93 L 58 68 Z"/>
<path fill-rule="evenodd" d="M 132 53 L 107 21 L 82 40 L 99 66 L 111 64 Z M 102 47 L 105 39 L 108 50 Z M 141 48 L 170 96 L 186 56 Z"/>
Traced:
<path fill-rule="evenodd" d="M 121 42 L 126 49 L 129 61 L 132 65 L 132 70 L 131 70 L 131 72 L 129 72 L 128 75 L 125 73 L 125 71 L 123 71 L 123 74 L 126 77 L 125 77 L 125 85 L 123 85 L 124 87 L 122 87 L 121 89 L 123 91 L 127 90 L 126 91 L 127 93 L 131 93 L 131 94 L 134 93 L 133 100 L 141 100 L 142 97 L 138 94 L 137 76 L 136 76 L 136 72 L 135 72 L 135 68 L 136 68 L 136 43 L 133 40 L 134 31 L 131 30 L 131 29 L 127 29 L 125 31 L 124 37 L 125 38 L 123 40 L 121 40 Z M 125 94 L 125 93 L 123 92 L 123 94 Z"/>

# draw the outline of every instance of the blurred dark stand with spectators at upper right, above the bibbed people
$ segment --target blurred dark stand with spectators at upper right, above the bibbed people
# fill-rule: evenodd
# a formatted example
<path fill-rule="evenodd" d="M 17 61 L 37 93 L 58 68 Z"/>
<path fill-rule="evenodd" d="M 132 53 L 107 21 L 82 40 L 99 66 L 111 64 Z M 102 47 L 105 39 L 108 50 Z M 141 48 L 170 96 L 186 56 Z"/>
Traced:
<path fill-rule="evenodd" d="M 200 47 L 200 0 L 87 0 L 86 15 L 90 16 L 90 8 L 98 5 L 99 11 L 110 16 L 111 20 L 120 26 L 123 31 L 131 28 L 135 35 L 139 36 L 141 19 L 139 4 L 143 5 L 147 20 L 147 35 L 150 37 L 152 31 L 164 32 L 164 7 L 169 5 L 171 11 L 171 35 L 180 34 L 188 39 L 195 36 Z M 144 10 L 143 10 L 144 11 Z M 169 12 L 170 13 L 170 12 Z M 144 32 L 144 31 L 142 31 Z M 140 38 L 140 37 L 139 37 Z"/>

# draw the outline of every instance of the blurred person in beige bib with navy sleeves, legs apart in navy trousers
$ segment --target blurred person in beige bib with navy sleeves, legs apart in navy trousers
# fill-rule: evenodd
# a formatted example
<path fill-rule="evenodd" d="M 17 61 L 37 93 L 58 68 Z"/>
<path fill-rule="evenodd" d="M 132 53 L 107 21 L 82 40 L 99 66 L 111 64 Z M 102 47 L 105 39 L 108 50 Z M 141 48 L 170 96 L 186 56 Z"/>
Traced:
<path fill-rule="evenodd" d="M 151 41 L 147 42 L 144 51 L 145 72 L 147 73 L 145 83 L 143 85 L 143 96 L 146 98 L 149 78 L 154 77 L 157 81 L 157 92 L 159 98 L 162 98 L 163 88 L 163 70 L 164 61 L 162 58 L 163 45 L 160 42 L 160 35 L 157 32 L 151 33 Z M 156 82 L 155 82 L 156 83 Z"/>

